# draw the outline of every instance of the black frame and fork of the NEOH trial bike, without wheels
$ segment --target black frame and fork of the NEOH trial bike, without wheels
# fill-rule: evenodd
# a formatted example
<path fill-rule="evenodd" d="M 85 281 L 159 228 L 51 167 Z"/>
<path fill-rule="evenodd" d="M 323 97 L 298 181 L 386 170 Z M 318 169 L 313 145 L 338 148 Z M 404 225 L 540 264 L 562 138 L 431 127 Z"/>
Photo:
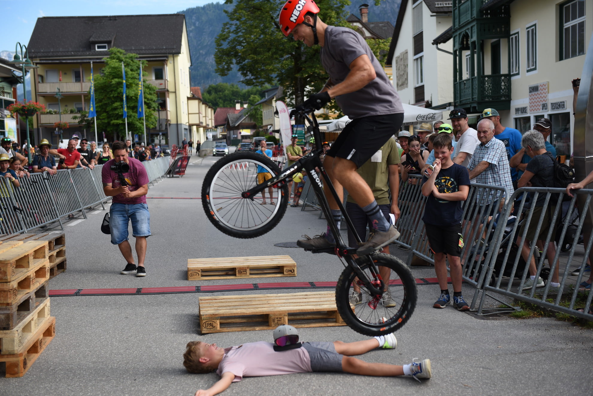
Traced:
<path fill-rule="evenodd" d="M 346 260 L 346 263 L 348 263 L 348 265 L 352 267 L 352 269 L 358 276 L 358 279 L 361 280 L 362 283 L 364 283 L 366 289 L 368 289 L 369 292 L 373 293 L 374 295 L 380 296 L 383 293 L 384 282 L 381 279 L 381 275 L 379 274 L 377 266 L 375 266 L 375 263 L 372 261 L 371 257 L 367 256 L 371 272 L 375 277 L 377 277 L 378 280 L 381 281 L 380 288 L 376 288 L 374 285 L 372 285 L 371 280 L 369 280 L 368 277 L 362 272 L 361 267 L 358 264 L 356 264 L 356 261 L 352 256 L 353 254 L 356 254 L 357 248 L 350 248 L 345 244 L 344 240 L 342 239 L 342 235 L 340 234 L 340 229 L 337 228 L 336 222 L 331 221 L 333 219 L 333 216 L 331 215 L 329 202 L 327 202 L 326 195 L 323 190 L 323 184 L 321 183 L 321 179 L 317 174 L 317 171 L 315 170 L 316 168 L 320 171 L 321 177 L 323 177 L 324 183 L 326 183 L 327 187 L 331 191 L 331 195 L 336 201 L 337 206 L 340 210 L 342 210 L 342 215 L 344 216 L 344 219 L 346 221 L 347 228 L 350 231 L 352 231 L 352 234 L 355 236 L 357 242 L 362 242 L 361 237 L 358 235 L 356 229 L 354 228 L 350 216 L 348 216 L 346 209 L 342 205 L 342 200 L 340 200 L 340 198 L 338 197 L 336 189 L 334 189 L 334 186 L 331 183 L 331 180 L 327 175 L 326 170 L 324 169 L 323 164 L 321 163 L 321 160 L 319 159 L 319 156 L 321 152 L 323 152 L 323 149 L 321 148 L 321 136 L 319 132 L 319 124 L 317 123 L 317 119 L 315 118 L 314 114 L 313 119 L 311 119 L 308 116 L 308 114 L 302 114 L 302 116 L 304 116 L 310 124 L 308 128 L 310 131 L 313 132 L 316 146 L 315 149 L 311 150 L 310 154 L 305 155 L 305 157 L 298 159 L 294 164 L 291 165 L 291 167 L 286 168 L 276 177 L 272 177 L 269 180 L 264 181 L 264 183 L 258 184 L 252 189 L 244 191 L 241 196 L 243 198 L 253 199 L 254 196 L 256 196 L 261 191 L 267 189 L 268 187 L 283 186 L 284 184 L 286 184 L 286 179 L 290 175 L 295 174 L 298 171 L 305 170 L 309 177 L 309 180 L 311 180 L 311 183 L 313 183 L 313 190 L 315 191 L 315 194 L 317 194 L 317 197 L 319 199 L 321 211 L 326 216 L 326 219 L 328 220 L 327 224 L 331 229 L 331 233 L 333 234 L 334 239 L 336 239 L 335 248 L 315 251 L 314 253 L 335 253 L 337 256 L 343 257 Z"/>

